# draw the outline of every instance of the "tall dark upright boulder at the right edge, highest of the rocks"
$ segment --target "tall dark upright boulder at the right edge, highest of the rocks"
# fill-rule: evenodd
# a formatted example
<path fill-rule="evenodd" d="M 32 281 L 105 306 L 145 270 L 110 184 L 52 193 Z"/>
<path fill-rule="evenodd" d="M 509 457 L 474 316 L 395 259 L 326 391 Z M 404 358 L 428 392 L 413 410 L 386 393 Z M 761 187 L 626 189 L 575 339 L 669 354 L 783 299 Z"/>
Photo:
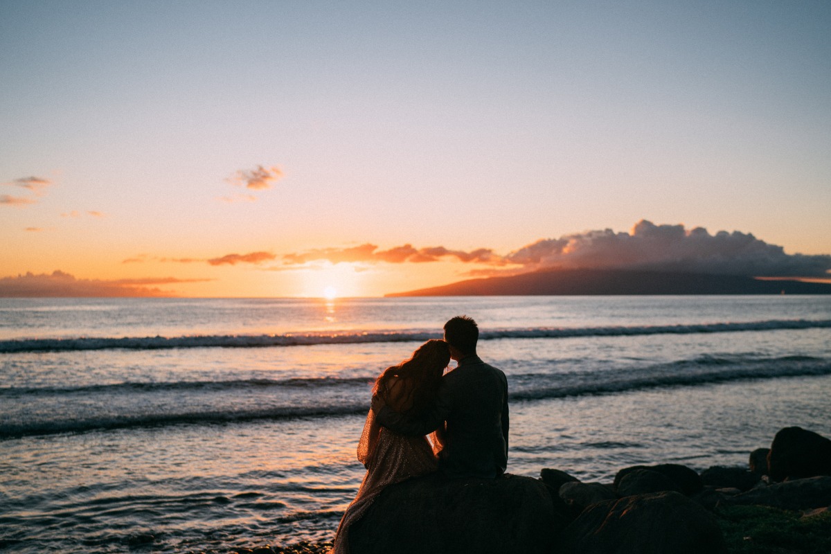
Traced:
<path fill-rule="evenodd" d="M 780 429 L 770 445 L 768 468 L 774 481 L 831 475 L 831 440 L 801 427 Z"/>

